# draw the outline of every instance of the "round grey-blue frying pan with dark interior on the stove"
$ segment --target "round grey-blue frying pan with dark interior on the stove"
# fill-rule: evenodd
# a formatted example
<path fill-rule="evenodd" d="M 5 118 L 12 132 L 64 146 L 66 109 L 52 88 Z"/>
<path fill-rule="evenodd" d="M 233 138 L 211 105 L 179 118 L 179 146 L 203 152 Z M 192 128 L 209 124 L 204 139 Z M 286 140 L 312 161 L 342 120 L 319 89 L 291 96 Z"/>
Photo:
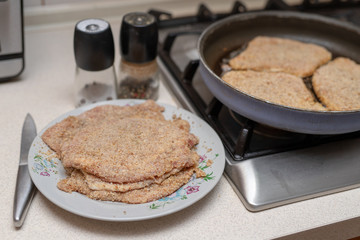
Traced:
<path fill-rule="evenodd" d="M 256 36 L 275 36 L 324 46 L 360 63 L 360 28 L 320 15 L 267 11 L 218 21 L 200 36 L 200 74 L 213 95 L 256 122 L 292 132 L 341 134 L 360 130 L 360 111 L 311 111 L 273 104 L 239 91 L 219 77 L 220 60 Z"/>

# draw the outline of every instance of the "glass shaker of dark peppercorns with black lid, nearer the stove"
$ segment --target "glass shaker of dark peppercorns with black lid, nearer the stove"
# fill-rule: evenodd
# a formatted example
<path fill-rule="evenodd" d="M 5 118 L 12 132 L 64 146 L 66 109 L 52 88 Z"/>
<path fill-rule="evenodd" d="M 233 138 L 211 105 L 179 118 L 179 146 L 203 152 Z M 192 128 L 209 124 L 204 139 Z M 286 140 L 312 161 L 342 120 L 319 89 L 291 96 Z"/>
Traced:
<path fill-rule="evenodd" d="M 160 74 L 156 62 L 157 44 L 158 28 L 154 16 L 132 12 L 123 17 L 118 98 L 158 98 Z"/>

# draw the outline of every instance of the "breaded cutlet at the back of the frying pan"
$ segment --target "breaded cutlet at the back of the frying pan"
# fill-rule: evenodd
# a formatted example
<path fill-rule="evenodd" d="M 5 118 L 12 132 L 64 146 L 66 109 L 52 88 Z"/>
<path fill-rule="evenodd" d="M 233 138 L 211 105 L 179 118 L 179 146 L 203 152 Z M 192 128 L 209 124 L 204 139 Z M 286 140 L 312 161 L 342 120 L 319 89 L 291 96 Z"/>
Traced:
<path fill-rule="evenodd" d="M 285 72 L 307 77 L 330 60 L 331 53 L 321 46 L 259 36 L 251 40 L 245 51 L 231 59 L 229 64 L 236 70 Z"/>

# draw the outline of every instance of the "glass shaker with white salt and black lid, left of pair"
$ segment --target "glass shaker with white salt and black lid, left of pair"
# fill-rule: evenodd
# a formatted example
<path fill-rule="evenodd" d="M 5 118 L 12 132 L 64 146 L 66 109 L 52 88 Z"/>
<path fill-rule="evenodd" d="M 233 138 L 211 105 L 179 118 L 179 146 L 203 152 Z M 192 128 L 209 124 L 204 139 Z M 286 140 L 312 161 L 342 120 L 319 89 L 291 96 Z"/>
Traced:
<path fill-rule="evenodd" d="M 116 99 L 115 50 L 110 24 L 101 19 L 78 22 L 74 54 L 76 107 Z"/>

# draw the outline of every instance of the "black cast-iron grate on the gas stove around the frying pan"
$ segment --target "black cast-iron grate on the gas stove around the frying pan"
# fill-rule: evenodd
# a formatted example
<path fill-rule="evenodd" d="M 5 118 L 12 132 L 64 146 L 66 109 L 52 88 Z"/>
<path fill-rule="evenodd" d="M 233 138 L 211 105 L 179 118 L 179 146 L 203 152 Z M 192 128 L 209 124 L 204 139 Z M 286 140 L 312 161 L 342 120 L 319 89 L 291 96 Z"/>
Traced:
<path fill-rule="evenodd" d="M 336 7 L 336 16 L 340 10 L 338 7 L 342 4 L 348 8 L 350 5 L 360 2 L 348 1 L 330 3 L 317 3 L 316 1 L 304 1 L 303 5 L 291 7 L 283 1 L 269 1 L 266 9 L 277 10 L 311 10 L 329 9 Z M 353 9 L 354 10 L 354 9 Z M 245 160 L 251 157 L 258 157 L 266 154 L 274 154 L 293 149 L 306 148 L 318 144 L 328 143 L 332 141 L 342 140 L 360 136 L 360 132 L 342 134 L 342 135 L 309 135 L 292 133 L 279 129 L 267 127 L 253 122 L 245 117 L 239 116 L 232 112 L 227 106 L 223 105 L 215 97 L 211 97 L 210 102 L 206 103 L 201 96 L 205 86 L 200 91 L 194 88 L 194 78 L 199 66 L 198 59 L 191 59 L 183 70 L 172 57 L 172 49 L 177 38 L 186 35 L 199 36 L 202 30 L 210 23 L 222 19 L 224 17 L 246 12 L 245 5 L 241 2 L 235 2 L 229 13 L 214 14 L 205 5 L 201 4 L 198 13 L 193 17 L 171 18 L 171 14 L 151 10 L 150 13 L 155 15 L 159 21 L 161 29 L 192 26 L 186 30 L 170 31 L 163 37 L 163 41 L 159 44 L 159 56 L 165 63 L 166 68 L 172 73 L 182 91 L 191 99 L 200 115 L 217 131 L 224 146 L 230 153 L 233 160 Z M 329 11 L 329 10 L 328 10 Z M 354 10 L 355 11 L 355 10 Z M 167 19 L 163 20 L 163 16 Z M 341 14 L 350 16 L 351 14 Z"/>

